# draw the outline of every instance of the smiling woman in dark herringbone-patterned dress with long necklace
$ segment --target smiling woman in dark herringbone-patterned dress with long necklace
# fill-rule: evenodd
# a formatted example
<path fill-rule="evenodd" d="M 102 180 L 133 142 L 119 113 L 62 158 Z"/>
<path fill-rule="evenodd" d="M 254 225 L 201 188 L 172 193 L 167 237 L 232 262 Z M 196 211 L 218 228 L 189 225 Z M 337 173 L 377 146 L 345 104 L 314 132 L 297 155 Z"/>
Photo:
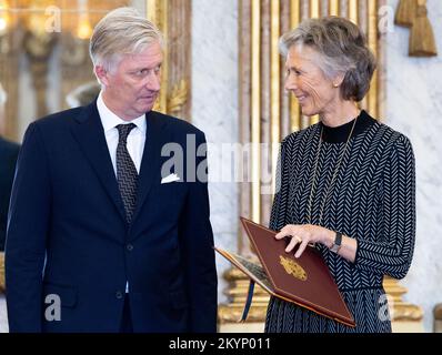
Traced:
<path fill-rule="evenodd" d="M 270 227 L 297 257 L 315 244 L 356 327 L 272 297 L 265 332 L 391 332 L 382 281 L 404 277 L 413 255 L 412 146 L 358 108 L 375 59 L 355 24 L 307 20 L 280 43 L 287 91 L 320 122 L 282 142 Z"/>

